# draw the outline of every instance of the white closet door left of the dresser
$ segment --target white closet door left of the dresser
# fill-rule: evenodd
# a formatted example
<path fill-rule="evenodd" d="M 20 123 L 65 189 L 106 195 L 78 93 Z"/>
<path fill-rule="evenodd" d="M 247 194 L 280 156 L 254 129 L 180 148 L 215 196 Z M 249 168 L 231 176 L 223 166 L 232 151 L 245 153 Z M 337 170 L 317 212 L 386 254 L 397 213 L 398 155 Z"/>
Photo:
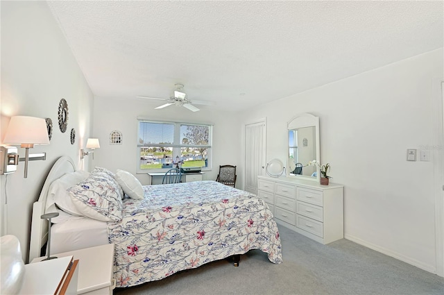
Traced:
<path fill-rule="evenodd" d="M 257 176 L 264 175 L 266 124 L 261 119 L 245 126 L 245 190 L 257 194 Z"/>

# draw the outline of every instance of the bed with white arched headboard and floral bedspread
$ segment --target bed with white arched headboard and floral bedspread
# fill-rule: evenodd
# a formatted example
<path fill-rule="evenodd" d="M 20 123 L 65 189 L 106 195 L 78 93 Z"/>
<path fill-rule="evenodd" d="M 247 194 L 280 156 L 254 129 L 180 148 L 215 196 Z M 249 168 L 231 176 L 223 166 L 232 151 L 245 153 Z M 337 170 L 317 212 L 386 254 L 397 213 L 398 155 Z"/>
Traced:
<path fill-rule="evenodd" d="M 117 205 L 107 212 L 106 217 L 114 220 L 103 221 L 90 215 L 66 214 L 51 203 L 56 180 L 74 173 L 78 173 L 74 162 L 65 156 L 58 159 L 49 172 L 40 198 L 33 205 L 30 261 L 42 255 L 46 243 L 48 224 L 40 216 L 56 208 L 62 217 L 51 226 L 51 253 L 113 243 L 117 287 L 161 280 L 178 271 L 241 255 L 252 249 L 263 251 L 273 263 L 282 262 L 279 231 L 273 214 L 254 194 L 204 180 L 142 186 L 143 196 L 136 199 L 129 196 L 133 187 L 127 185 L 123 189 L 123 199 L 117 200 Z M 87 179 L 69 188 L 72 200 L 78 201 L 73 194 L 85 197 L 85 192 L 91 191 L 93 174 L 107 179 L 105 174 L 117 178 L 106 169 L 99 172 L 94 169 Z M 85 175 L 80 178 L 83 177 Z M 117 194 L 121 187 L 125 188 L 123 184 L 118 188 L 103 183 L 96 186 Z M 128 189 L 131 189 L 129 194 Z M 85 197 L 85 203 L 91 205 L 93 198 L 88 198 Z M 108 204 L 110 207 L 112 205 Z"/>

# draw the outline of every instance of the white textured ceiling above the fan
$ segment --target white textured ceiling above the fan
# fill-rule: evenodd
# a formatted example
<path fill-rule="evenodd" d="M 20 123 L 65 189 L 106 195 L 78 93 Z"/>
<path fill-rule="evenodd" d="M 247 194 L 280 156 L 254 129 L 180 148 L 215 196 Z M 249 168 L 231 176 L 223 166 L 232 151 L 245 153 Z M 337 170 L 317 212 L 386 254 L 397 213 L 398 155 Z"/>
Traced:
<path fill-rule="evenodd" d="M 244 110 L 443 47 L 443 1 L 48 3 L 94 95 L 167 98 L 182 83 L 216 102 L 201 109 Z"/>

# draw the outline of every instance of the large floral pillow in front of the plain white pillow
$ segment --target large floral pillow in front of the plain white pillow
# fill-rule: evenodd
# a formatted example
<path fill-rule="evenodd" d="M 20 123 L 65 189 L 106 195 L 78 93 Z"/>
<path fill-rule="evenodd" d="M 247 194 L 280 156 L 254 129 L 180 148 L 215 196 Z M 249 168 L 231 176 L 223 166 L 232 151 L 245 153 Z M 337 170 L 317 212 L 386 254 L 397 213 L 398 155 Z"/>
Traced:
<path fill-rule="evenodd" d="M 122 219 L 123 191 L 108 172 L 94 169 L 87 179 L 69 187 L 68 192 L 76 208 L 86 217 L 100 221 Z"/>

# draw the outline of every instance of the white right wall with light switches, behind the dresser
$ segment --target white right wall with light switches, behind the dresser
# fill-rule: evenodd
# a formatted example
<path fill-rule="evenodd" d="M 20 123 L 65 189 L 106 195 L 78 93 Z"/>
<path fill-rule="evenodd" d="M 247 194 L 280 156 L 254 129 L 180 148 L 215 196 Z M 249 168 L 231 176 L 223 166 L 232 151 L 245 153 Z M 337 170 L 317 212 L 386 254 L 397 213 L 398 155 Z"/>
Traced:
<path fill-rule="evenodd" d="M 333 183 L 345 185 L 345 237 L 435 272 L 433 155 L 430 162 L 407 162 L 406 152 L 436 140 L 436 78 L 443 79 L 442 49 L 239 117 L 243 124 L 267 117 L 267 160 L 287 157 L 286 121 L 300 112 L 320 117 L 321 162 L 332 165 Z"/>

